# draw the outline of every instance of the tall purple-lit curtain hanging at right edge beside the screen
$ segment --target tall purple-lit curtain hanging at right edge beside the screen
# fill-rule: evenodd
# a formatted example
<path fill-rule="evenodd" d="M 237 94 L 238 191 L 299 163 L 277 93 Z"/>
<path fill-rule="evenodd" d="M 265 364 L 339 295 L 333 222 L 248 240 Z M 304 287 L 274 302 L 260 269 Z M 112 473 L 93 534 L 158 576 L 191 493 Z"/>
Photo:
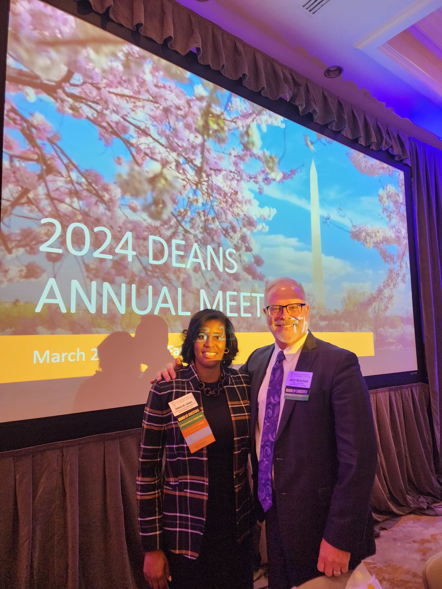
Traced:
<path fill-rule="evenodd" d="M 415 139 L 410 150 L 425 361 L 442 472 L 442 152 Z"/>

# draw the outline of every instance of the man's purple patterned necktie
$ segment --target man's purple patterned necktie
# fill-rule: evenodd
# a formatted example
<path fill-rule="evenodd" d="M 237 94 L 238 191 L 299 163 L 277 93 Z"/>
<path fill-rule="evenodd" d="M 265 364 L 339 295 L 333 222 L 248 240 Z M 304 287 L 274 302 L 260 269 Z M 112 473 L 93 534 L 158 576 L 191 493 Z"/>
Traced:
<path fill-rule="evenodd" d="M 270 375 L 266 412 L 262 423 L 258 465 L 258 499 L 264 511 L 268 511 L 272 507 L 273 446 L 275 446 L 276 429 L 278 429 L 279 401 L 281 400 L 284 375 L 282 362 L 284 359 L 284 352 L 279 350 Z"/>

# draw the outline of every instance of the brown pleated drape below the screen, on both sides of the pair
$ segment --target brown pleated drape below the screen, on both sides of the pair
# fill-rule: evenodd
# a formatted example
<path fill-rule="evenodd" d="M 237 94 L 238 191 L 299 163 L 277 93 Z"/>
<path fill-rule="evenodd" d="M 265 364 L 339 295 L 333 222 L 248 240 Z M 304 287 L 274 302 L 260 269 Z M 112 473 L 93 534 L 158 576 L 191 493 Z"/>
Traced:
<path fill-rule="evenodd" d="M 437 514 L 428 386 L 371 392 L 378 519 Z M 138 537 L 140 430 L 0 454 L 0 587 L 145 589 Z"/>

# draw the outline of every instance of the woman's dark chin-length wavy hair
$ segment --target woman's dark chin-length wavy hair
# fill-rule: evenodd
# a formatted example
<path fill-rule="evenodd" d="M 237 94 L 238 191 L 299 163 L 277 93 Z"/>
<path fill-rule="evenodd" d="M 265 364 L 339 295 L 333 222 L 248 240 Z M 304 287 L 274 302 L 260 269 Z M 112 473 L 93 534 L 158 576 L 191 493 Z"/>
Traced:
<path fill-rule="evenodd" d="M 223 323 L 226 330 L 226 348 L 229 350 L 221 360 L 223 366 L 230 366 L 233 359 L 238 354 L 238 340 L 236 339 L 235 329 L 229 317 L 226 317 L 221 311 L 216 309 L 203 309 L 192 315 L 189 327 L 182 333 L 183 344 L 181 346 L 181 356 L 187 364 L 195 359 L 194 343 L 201 332 L 204 323 L 216 319 Z"/>

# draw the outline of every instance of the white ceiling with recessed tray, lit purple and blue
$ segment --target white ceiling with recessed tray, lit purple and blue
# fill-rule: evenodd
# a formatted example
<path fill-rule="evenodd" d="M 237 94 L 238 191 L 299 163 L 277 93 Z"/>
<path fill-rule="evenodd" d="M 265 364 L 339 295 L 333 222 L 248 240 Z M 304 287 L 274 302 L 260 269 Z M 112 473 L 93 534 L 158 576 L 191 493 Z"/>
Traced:
<path fill-rule="evenodd" d="M 442 0 L 179 0 L 425 143 L 442 148 Z M 339 78 L 325 68 L 341 65 Z"/>

